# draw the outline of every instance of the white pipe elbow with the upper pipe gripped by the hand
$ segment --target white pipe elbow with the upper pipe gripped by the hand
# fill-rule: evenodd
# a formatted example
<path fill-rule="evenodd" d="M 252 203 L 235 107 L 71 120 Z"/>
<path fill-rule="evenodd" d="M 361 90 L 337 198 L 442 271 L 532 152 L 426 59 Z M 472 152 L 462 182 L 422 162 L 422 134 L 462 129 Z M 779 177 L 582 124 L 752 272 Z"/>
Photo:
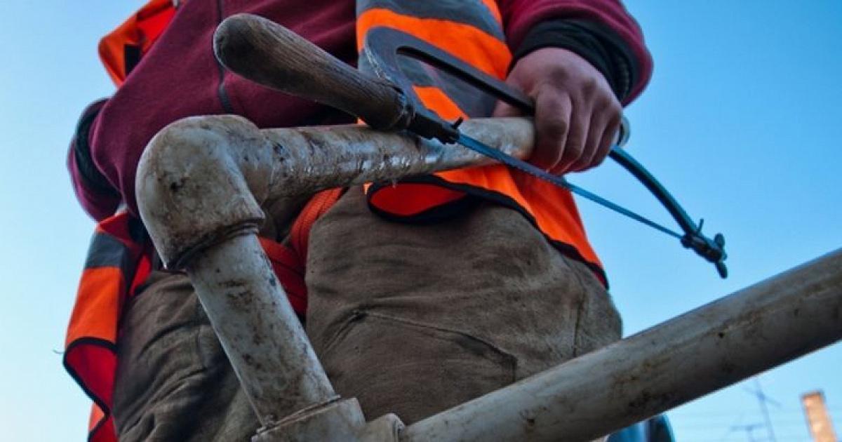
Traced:
<path fill-rule="evenodd" d="M 474 119 L 469 136 L 528 157 L 525 118 Z M 258 130 L 235 115 L 189 117 L 150 141 L 138 165 L 141 218 L 168 268 L 241 226 L 258 226 L 267 199 L 489 164 L 456 145 L 362 125 Z"/>

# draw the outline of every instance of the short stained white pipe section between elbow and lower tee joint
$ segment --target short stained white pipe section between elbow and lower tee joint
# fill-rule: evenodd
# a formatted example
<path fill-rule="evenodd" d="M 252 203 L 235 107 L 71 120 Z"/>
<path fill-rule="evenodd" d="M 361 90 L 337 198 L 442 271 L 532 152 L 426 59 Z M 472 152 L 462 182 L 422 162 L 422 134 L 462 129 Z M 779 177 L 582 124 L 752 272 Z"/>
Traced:
<path fill-rule="evenodd" d="M 257 237 L 206 248 L 187 274 L 260 423 L 337 397 Z"/>

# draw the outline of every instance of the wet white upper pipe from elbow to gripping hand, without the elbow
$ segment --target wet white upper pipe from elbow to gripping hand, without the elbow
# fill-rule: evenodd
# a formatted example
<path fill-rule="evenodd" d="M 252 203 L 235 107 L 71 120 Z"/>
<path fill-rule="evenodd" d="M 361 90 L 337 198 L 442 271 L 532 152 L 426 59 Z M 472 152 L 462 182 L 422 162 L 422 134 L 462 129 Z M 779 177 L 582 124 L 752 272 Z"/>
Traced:
<path fill-rule="evenodd" d="M 460 130 L 515 157 L 528 157 L 534 128 L 525 118 L 473 119 Z M 406 132 L 380 132 L 361 125 L 267 129 L 275 164 L 269 194 L 310 194 L 321 189 L 491 164 L 465 147 Z"/>

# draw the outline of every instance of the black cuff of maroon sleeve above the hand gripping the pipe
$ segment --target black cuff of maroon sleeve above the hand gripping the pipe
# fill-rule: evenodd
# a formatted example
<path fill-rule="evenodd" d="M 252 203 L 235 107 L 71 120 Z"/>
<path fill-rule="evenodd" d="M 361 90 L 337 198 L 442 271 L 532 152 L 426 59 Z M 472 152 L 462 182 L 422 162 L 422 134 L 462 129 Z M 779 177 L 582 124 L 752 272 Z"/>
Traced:
<path fill-rule="evenodd" d="M 589 61 L 602 72 L 621 101 L 637 83 L 639 68 L 631 48 L 602 24 L 580 19 L 554 19 L 537 24 L 514 51 L 513 66 L 526 54 L 545 47 L 567 49 Z"/>

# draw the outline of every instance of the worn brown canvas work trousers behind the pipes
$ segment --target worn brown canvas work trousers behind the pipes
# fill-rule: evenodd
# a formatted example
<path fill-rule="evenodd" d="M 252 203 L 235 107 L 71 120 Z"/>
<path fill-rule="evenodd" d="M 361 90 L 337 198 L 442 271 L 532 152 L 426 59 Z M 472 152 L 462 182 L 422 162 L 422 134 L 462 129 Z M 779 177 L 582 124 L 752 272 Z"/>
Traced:
<path fill-rule="evenodd" d="M 621 336 L 594 274 L 488 203 L 408 225 L 371 214 L 351 189 L 312 228 L 306 283 L 306 331 L 337 392 L 357 397 L 368 419 L 413 423 Z M 186 276 L 153 274 L 122 324 L 121 440 L 254 434 Z"/>

